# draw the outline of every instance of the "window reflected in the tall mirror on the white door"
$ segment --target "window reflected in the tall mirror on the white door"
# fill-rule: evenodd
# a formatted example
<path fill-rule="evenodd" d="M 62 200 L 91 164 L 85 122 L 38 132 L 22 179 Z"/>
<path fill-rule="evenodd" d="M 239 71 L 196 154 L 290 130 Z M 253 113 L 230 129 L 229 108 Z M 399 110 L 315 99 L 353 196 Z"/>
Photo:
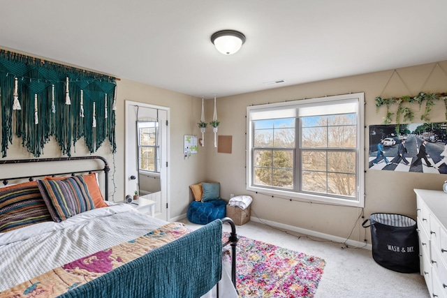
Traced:
<path fill-rule="evenodd" d="M 138 165 L 140 171 L 160 172 L 159 122 L 138 121 Z"/>

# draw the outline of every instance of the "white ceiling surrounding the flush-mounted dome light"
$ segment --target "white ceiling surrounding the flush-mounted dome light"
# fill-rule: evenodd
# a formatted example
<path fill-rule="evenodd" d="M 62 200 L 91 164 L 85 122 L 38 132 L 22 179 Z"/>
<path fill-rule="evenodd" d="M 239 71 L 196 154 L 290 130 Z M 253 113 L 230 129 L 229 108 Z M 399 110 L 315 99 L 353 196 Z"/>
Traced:
<path fill-rule="evenodd" d="M 446 12 L 446 0 L 2 0 L 0 47 L 212 98 L 447 60 Z M 214 48 L 222 29 L 244 33 L 240 52 Z"/>

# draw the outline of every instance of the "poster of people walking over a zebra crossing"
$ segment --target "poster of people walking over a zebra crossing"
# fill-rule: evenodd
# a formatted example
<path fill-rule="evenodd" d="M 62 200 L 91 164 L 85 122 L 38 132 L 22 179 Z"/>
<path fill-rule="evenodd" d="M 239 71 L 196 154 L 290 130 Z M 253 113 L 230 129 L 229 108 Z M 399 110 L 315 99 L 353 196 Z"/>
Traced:
<path fill-rule="evenodd" d="M 369 126 L 369 170 L 447 174 L 447 124 Z"/>

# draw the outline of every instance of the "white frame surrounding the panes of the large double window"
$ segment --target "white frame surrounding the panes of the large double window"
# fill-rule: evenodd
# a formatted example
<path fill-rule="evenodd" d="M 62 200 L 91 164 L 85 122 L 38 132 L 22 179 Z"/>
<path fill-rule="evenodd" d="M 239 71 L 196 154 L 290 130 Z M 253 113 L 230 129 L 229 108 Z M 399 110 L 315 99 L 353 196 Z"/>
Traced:
<path fill-rule="evenodd" d="M 299 191 L 287 191 L 284 189 L 269 188 L 265 186 L 254 185 L 254 128 L 253 123 L 254 117 L 256 115 L 261 115 L 263 119 L 276 119 L 276 112 L 278 110 L 290 110 L 293 115 L 294 110 L 299 110 L 302 107 L 330 107 L 330 105 L 340 104 L 340 103 L 357 103 L 356 105 L 356 181 L 357 181 L 357 191 L 355 199 L 343 198 L 342 196 L 336 195 L 324 195 L 324 194 L 314 194 L 314 193 L 304 193 Z M 296 113 L 295 113 L 296 114 Z M 323 113 L 324 114 L 324 113 Z M 293 116 L 292 116 L 293 117 Z M 258 193 L 266 193 L 269 195 L 277 195 L 281 198 L 290 197 L 298 198 L 304 201 L 318 201 L 325 202 L 328 204 L 336 204 L 342 206 L 352 206 L 352 207 L 364 207 L 365 206 L 365 94 L 343 94 L 337 96 L 325 96 L 321 98 L 303 99 L 303 100 L 293 100 L 283 103 L 271 103 L 265 105 L 253 105 L 247 107 L 247 190 L 254 191 Z M 301 129 L 301 128 L 300 128 Z M 301 131 L 297 132 L 298 135 Z M 295 147 L 298 148 L 300 142 L 295 140 Z M 295 170 L 295 174 L 300 174 Z"/>

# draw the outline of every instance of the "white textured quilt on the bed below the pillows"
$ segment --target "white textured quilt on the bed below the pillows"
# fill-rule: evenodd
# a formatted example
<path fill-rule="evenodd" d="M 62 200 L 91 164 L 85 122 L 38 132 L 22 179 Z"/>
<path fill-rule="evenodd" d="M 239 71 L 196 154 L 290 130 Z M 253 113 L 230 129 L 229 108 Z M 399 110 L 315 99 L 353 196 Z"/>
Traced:
<path fill-rule="evenodd" d="M 0 233 L 0 291 L 164 224 L 130 205 L 116 204 L 62 223 L 39 223 Z"/>

